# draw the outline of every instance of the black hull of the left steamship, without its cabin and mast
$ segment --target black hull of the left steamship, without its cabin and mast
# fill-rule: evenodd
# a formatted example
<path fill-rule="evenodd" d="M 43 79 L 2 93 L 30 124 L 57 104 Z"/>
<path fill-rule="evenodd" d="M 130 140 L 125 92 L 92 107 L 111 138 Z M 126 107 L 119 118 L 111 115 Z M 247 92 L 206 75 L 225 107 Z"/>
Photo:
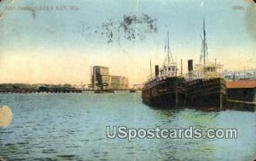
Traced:
<path fill-rule="evenodd" d="M 144 84 L 143 102 L 149 106 L 177 107 L 186 104 L 186 82 L 184 78 L 166 78 Z"/>

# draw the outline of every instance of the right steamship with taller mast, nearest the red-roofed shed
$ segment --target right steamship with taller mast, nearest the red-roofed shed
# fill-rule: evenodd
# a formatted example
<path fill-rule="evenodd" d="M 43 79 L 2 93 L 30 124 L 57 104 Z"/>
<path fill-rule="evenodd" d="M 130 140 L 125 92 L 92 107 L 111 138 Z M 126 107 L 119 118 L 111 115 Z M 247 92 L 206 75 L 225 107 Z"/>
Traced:
<path fill-rule="evenodd" d="M 223 65 L 218 64 L 216 59 L 215 62 L 208 61 L 205 20 L 203 20 L 201 41 L 200 63 L 193 66 L 193 60 L 188 61 L 187 103 L 189 106 L 203 109 L 209 107 L 222 109 L 226 100 L 225 80 L 220 74 Z"/>

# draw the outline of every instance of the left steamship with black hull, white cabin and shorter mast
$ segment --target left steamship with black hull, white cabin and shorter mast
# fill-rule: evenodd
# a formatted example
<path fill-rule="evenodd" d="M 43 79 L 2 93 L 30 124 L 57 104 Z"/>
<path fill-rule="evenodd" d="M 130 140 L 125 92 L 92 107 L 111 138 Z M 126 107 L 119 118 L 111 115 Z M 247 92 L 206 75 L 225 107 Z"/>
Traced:
<path fill-rule="evenodd" d="M 169 32 L 165 46 L 166 59 L 161 67 L 155 66 L 148 81 L 143 84 L 142 98 L 145 104 L 157 107 L 177 107 L 185 105 L 186 81 L 181 73 L 177 73 L 177 62 L 172 58 L 169 46 Z M 151 62 L 150 62 L 151 69 Z"/>

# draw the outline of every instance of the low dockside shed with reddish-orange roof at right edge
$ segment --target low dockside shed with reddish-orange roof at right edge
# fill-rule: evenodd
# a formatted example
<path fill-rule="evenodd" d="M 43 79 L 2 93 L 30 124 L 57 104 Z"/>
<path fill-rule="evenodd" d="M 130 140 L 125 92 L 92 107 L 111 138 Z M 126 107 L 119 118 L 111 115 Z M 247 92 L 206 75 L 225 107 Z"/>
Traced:
<path fill-rule="evenodd" d="M 256 80 L 239 80 L 226 83 L 228 99 L 256 102 Z"/>

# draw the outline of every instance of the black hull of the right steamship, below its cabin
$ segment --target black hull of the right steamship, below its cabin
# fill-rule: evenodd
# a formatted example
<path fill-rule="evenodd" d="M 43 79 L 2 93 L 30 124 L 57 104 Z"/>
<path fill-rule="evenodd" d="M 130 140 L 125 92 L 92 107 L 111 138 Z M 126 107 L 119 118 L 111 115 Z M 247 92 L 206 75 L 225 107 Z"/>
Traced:
<path fill-rule="evenodd" d="M 224 78 L 208 80 L 196 79 L 187 83 L 187 103 L 189 106 L 207 109 L 223 109 L 226 101 Z"/>

